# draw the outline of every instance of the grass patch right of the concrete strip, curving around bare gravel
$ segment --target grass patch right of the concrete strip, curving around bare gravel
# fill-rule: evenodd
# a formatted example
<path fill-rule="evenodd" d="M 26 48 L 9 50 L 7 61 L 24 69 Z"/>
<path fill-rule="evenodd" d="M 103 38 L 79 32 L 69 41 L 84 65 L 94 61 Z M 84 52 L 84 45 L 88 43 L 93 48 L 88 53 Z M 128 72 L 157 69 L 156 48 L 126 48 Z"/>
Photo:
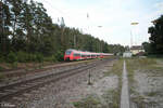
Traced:
<path fill-rule="evenodd" d="M 163 71 L 163 67 L 156 67 L 159 65 L 156 58 L 129 58 L 126 59 L 126 63 L 129 80 L 129 92 L 133 95 L 131 100 L 137 104 L 138 108 L 143 108 L 146 105 L 145 98 L 147 96 L 154 97 L 158 95 L 158 93 L 149 92 L 141 95 L 138 91 L 136 91 L 135 85 L 137 82 L 134 79 L 135 72 L 137 72 L 136 70 L 138 70 L 139 72 L 146 72 L 148 75 L 152 73 L 153 76 L 156 76 L 159 72 Z"/>

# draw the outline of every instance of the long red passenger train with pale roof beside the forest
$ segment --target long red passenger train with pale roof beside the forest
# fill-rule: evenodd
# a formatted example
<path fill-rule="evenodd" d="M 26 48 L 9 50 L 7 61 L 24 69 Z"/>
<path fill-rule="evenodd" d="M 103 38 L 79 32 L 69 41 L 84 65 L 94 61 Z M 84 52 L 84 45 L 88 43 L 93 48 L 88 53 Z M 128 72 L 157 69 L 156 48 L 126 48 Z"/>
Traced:
<path fill-rule="evenodd" d="M 93 52 L 84 52 L 73 49 L 65 51 L 64 60 L 79 60 L 79 59 L 90 59 L 90 58 L 103 58 L 106 56 L 112 56 L 110 53 L 93 53 Z"/>

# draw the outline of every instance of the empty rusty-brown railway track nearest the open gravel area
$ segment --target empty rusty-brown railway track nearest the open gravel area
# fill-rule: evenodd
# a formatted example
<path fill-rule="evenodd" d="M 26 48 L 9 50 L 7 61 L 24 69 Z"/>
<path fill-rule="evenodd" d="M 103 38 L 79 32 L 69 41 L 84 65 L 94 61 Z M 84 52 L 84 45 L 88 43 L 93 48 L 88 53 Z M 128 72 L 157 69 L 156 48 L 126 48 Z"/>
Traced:
<path fill-rule="evenodd" d="M 61 79 L 71 77 L 73 75 L 84 72 L 88 69 L 93 68 L 97 65 L 103 64 L 110 59 L 98 60 L 96 63 L 82 65 L 79 67 L 74 67 L 73 69 L 63 70 L 60 72 L 49 72 L 41 76 L 36 76 L 32 79 L 23 80 L 20 82 L 13 82 L 8 85 L 0 86 L 0 102 L 7 100 L 13 96 L 20 95 L 22 93 L 32 91 L 50 82 L 55 82 Z"/>

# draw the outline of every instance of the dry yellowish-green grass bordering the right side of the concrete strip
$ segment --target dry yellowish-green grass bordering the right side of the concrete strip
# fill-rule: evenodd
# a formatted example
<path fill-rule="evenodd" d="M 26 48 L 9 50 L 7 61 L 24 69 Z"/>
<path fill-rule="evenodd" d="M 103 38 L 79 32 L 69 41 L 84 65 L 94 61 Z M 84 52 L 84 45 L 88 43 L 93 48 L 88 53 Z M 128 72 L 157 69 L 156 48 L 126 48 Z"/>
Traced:
<path fill-rule="evenodd" d="M 129 92 L 131 94 L 131 102 L 135 103 L 138 108 L 146 108 L 145 107 L 145 95 L 140 95 L 139 92 L 136 91 L 136 80 L 134 79 L 135 73 L 137 70 L 139 72 L 145 72 L 150 69 L 154 69 L 154 66 L 158 64 L 155 58 L 129 58 L 126 59 L 127 63 L 127 72 L 128 72 L 128 80 L 129 80 Z M 149 95 L 153 96 L 154 93 L 150 93 Z"/>

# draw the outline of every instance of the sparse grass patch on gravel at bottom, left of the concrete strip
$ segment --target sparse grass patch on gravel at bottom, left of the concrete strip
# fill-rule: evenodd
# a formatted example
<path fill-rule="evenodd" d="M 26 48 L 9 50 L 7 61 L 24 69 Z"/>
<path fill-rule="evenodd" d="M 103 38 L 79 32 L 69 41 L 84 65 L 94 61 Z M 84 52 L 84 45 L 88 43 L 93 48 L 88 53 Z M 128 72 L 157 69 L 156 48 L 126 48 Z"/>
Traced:
<path fill-rule="evenodd" d="M 101 97 L 91 94 L 73 105 L 75 108 L 120 108 L 120 92 L 109 90 Z"/>

